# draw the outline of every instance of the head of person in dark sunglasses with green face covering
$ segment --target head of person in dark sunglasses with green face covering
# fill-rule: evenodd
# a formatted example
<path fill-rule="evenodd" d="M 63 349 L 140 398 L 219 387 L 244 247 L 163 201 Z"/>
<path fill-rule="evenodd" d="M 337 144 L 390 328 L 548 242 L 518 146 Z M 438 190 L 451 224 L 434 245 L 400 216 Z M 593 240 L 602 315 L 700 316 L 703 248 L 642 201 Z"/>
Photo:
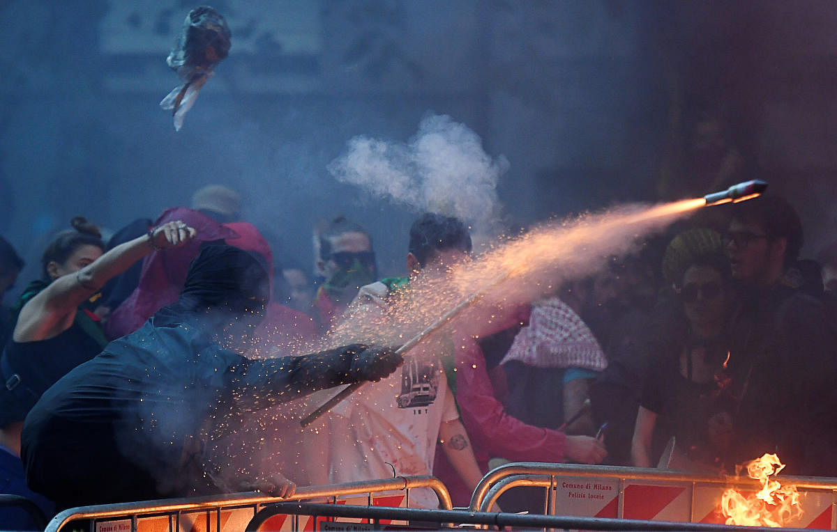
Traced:
<path fill-rule="evenodd" d="M 377 279 L 372 237 L 343 215 L 323 225 L 314 235 L 319 278 L 314 299 L 321 332 L 328 330 L 357 296 L 361 286 Z"/>

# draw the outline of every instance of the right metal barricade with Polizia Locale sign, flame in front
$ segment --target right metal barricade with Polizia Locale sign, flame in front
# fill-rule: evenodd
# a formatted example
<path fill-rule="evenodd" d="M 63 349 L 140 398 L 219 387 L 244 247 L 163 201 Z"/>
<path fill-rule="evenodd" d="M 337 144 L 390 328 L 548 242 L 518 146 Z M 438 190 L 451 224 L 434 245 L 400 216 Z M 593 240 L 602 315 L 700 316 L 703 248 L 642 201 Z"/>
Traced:
<path fill-rule="evenodd" d="M 795 528 L 837 529 L 837 479 L 779 476 L 796 486 L 804 511 Z M 545 515 L 720 524 L 727 488 L 754 493 L 752 479 L 578 464 L 511 463 L 492 469 L 477 485 L 471 511 L 489 511 L 501 494 L 521 486 L 543 489 Z"/>

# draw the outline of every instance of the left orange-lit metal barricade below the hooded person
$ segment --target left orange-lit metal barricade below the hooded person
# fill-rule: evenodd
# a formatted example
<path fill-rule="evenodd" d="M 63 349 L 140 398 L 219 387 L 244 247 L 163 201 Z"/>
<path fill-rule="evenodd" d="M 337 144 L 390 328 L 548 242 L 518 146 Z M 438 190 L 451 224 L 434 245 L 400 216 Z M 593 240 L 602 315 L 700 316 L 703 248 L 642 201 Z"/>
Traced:
<path fill-rule="evenodd" d="M 369 506 L 376 504 L 376 494 L 387 505 L 398 499 L 408 504 L 409 490 L 433 489 L 439 498 L 439 505 L 451 508 L 450 494 L 439 479 L 430 476 L 395 477 L 393 479 L 369 480 L 328 486 L 306 486 L 284 499 L 266 496 L 258 492 L 213 495 L 184 499 L 163 499 L 121 504 L 100 504 L 66 509 L 57 514 L 46 527 L 46 532 L 57 532 L 65 524 L 78 519 L 87 519 L 90 532 L 224 532 L 243 530 L 264 504 L 276 501 L 299 501 L 306 499 L 330 499 L 332 504 L 344 502 L 349 495 L 363 495 Z M 403 492 L 396 496 L 383 496 L 386 492 Z M 392 504 L 398 506 L 399 504 Z M 288 521 L 285 523 L 284 521 Z M 293 519 L 284 519 L 277 529 L 311 529 L 306 522 L 300 525 L 296 514 Z"/>

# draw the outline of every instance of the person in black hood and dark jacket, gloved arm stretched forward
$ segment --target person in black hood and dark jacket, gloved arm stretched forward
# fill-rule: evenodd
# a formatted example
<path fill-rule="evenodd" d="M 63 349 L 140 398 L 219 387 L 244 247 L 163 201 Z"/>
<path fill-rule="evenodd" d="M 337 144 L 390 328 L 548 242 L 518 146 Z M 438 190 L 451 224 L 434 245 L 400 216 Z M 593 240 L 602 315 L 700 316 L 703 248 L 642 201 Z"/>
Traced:
<path fill-rule="evenodd" d="M 262 489 L 280 474 L 209 459 L 247 413 L 339 384 L 377 380 L 402 359 L 354 344 L 300 357 L 239 354 L 264 315 L 268 271 L 233 246 L 205 246 L 177 302 L 59 380 L 29 413 L 22 458 L 58 508 Z"/>

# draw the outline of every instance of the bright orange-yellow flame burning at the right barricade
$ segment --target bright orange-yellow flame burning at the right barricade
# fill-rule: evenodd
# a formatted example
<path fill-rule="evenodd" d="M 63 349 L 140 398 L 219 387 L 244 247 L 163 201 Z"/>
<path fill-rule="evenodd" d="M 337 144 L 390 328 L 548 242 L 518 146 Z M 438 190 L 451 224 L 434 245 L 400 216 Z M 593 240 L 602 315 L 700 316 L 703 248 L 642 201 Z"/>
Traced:
<path fill-rule="evenodd" d="M 776 454 L 765 453 L 744 465 L 747 475 L 758 480 L 762 489 L 747 496 L 736 489 L 727 489 L 721 496 L 721 511 L 727 524 L 778 527 L 802 515 L 796 486 L 783 486 L 770 478 L 784 469 Z"/>

